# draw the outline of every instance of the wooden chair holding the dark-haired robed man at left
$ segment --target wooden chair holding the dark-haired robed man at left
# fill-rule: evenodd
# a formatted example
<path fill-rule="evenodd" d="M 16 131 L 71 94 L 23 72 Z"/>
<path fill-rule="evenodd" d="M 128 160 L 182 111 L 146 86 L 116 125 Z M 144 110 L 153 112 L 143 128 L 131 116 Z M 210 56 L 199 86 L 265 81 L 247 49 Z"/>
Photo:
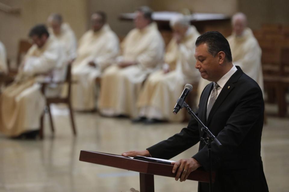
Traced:
<path fill-rule="evenodd" d="M 73 118 L 73 109 L 71 106 L 71 85 L 72 85 L 72 78 L 71 78 L 71 63 L 69 63 L 67 65 L 67 75 L 66 75 L 66 79 L 64 81 L 61 82 L 44 82 L 42 83 L 42 94 L 45 94 L 45 87 L 49 84 L 68 84 L 68 89 L 67 89 L 67 96 L 66 97 L 49 97 L 46 98 L 46 105 L 47 105 L 47 109 L 48 109 L 48 114 L 49 114 L 49 119 L 50 119 L 50 126 L 51 126 L 51 131 L 54 133 L 54 125 L 53 125 L 53 120 L 52 120 L 52 115 L 51 115 L 51 109 L 50 109 L 50 104 L 67 104 L 68 108 L 69 108 L 69 112 L 70 112 L 70 119 L 71 119 L 71 126 L 72 126 L 72 131 L 73 134 L 76 135 L 76 127 L 75 127 L 75 123 L 74 123 L 74 118 Z M 44 114 L 41 116 L 40 119 L 40 130 L 39 130 L 39 136 L 42 139 L 43 138 L 43 122 L 44 122 Z"/>

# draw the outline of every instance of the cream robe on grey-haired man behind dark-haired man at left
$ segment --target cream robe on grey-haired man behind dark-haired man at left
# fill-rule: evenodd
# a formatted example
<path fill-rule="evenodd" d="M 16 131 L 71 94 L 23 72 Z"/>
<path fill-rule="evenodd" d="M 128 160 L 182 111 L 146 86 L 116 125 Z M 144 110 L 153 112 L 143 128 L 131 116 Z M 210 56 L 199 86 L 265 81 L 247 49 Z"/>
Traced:
<path fill-rule="evenodd" d="M 68 61 L 76 58 L 77 41 L 73 30 L 68 23 L 61 24 L 60 34 L 55 35 L 51 28 L 48 29 L 51 38 L 58 40 L 65 49 Z"/>

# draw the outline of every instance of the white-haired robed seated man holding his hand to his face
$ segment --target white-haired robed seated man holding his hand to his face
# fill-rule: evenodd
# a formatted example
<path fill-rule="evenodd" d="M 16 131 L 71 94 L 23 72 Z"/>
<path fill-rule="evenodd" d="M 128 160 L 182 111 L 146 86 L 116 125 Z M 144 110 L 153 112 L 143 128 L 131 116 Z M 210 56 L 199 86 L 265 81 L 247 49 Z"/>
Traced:
<path fill-rule="evenodd" d="M 163 70 L 152 73 L 144 83 L 138 98 L 139 118 L 133 122 L 153 123 L 159 120 L 182 121 L 185 113 L 174 115 L 172 110 L 186 83 L 198 82 L 195 68 L 195 42 L 200 34 L 190 26 L 185 16 L 171 20 L 173 38 L 170 41 Z"/>

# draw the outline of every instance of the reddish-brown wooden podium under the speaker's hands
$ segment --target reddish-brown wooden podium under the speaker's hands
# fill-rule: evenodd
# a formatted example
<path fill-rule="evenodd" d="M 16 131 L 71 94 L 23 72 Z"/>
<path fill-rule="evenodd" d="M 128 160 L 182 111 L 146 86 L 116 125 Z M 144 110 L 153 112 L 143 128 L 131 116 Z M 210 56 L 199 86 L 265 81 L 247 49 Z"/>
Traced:
<path fill-rule="evenodd" d="M 106 165 L 129 171 L 139 172 L 140 192 L 154 191 L 154 175 L 175 177 L 172 165 L 131 159 L 119 155 L 81 150 L 79 161 Z M 213 182 L 215 174 L 213 173 Z M 195 170 L 188 176 L 188 180 L 209 182 L 209 172 Z"/>

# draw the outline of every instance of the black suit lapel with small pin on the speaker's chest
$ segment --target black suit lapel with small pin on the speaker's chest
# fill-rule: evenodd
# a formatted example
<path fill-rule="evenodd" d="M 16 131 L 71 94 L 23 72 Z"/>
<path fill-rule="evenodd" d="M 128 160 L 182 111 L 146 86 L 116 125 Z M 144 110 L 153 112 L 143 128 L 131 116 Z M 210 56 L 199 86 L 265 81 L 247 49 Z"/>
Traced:
<path fill-rule="evenodd" d="M 225 100 L 225 98 L 229 95 L 229 93 L 235 88 L 234 83 L 236 81 L 238 81 L 238 79 L 240 78 L 240 76 L 243 74 L 243 71 L 241 70 L 241 68 L 239 66 L 237 67 L 237 71 L 230 77 L 230 79 L 226 82 L 226 84 L 224 85 L 224 87 L 222 88 L 222 91 L 220 92 L 219 96 L 217 97 L 211 111 L 210 114 L 208 116 L 207 119 L 207 125 L 209 125 L 214 113 L 216 112 L 216 110 L 218 110 L 218 108 L 220 107 L 220 105 L 223 103 L 223 101 Z"/>

